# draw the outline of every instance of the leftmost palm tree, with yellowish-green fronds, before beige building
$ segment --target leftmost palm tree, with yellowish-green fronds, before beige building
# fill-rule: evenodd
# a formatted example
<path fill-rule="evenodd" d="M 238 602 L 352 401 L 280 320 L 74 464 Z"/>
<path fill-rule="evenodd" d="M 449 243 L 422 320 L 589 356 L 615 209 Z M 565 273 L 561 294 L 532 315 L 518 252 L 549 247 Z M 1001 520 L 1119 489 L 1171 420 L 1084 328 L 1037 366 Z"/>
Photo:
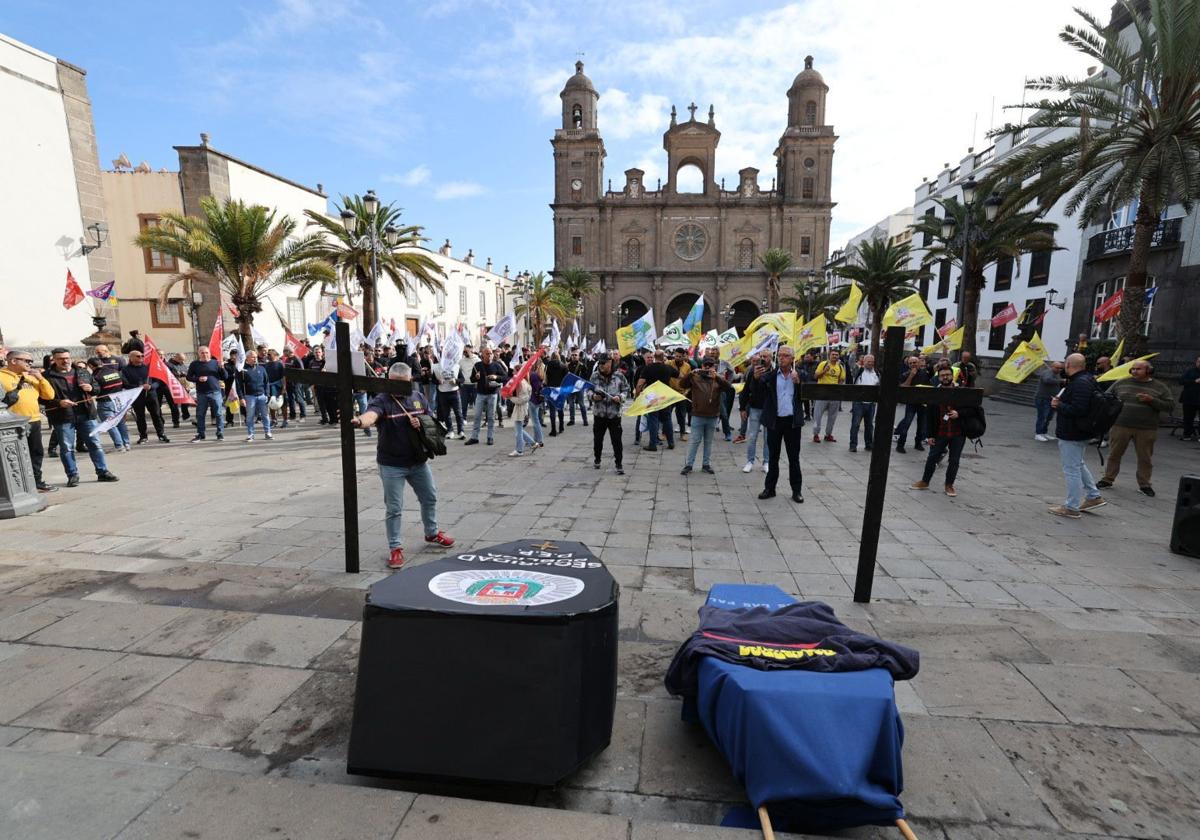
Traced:
<path fill-rule="evenodd" d="M 277 218 L 275 210 L 238 199 L 200 199 L 200 215 L 160 214 L 156 227 L 145 228 L 133 242 L 186 262 L 191 268 L 172 277 L 162 288 L 166 302 L 180 282 L 204 275 L 216 278 L 238 310 L 242 346 L 253 347 L 251 324 L 263 311 L 263 298 L 281 286 L 335 282 L 334 270 L 319 257 L 320 234 L 295 236 L 296 222 Z"/>

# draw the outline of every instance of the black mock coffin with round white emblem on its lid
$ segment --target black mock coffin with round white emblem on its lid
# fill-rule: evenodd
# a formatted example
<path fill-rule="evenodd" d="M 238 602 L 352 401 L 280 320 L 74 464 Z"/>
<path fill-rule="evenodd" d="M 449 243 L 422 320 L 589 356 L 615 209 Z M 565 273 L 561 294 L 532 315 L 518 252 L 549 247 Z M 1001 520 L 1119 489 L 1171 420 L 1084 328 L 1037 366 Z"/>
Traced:
<path fill-rule="evenodd" d="M 538 540 L 376 583 L 348 772 L 562 781 L 612 737 L 617 592 L 583 544 Z"/>

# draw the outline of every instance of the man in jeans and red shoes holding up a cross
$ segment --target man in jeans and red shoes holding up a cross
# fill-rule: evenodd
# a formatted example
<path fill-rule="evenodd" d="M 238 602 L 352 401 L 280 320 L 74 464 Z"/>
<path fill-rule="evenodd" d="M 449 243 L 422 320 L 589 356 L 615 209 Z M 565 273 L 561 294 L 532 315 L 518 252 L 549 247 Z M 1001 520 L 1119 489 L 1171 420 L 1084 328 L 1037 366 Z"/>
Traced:
<path fill-rule="evenodd" d="M 486 350 L 485 350 L 486 353 Z M 413 368 L 397 361 L 388 368 L 388 378 L 413 382 Z M 430 404 L 418 390 L 416 395 L 376 394 L 367 403 L 367 410 L 350 420 L 359 428 L 379 428 L 376 462 L 383 482 L 383 500 L 386 515 L 384 529 L 388 533 L 388 568 L 404 565 L 404 541 L 401 535 L 401 517 L 404 512 L 404 485 L 409 485 L 421 504 L 421 523 L 425 541 L 449 548 L 454 539 L 438 528 L 438 490 L 433 484 L 428 455 L 421 445 L 420 415 L 428 414 Z"/>

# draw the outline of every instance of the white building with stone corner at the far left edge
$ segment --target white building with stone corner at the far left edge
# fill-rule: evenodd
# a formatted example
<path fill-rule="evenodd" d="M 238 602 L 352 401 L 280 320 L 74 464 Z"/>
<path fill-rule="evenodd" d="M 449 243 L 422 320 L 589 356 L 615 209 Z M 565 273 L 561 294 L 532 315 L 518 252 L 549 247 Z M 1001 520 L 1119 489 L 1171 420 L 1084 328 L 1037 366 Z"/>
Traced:
<path fill-rule="evenodd" d="M 0 343 L 77 347 L 110 307 L 65 310 L 67 271 L 113 278 L 85 71 L 0 35 Z"/>

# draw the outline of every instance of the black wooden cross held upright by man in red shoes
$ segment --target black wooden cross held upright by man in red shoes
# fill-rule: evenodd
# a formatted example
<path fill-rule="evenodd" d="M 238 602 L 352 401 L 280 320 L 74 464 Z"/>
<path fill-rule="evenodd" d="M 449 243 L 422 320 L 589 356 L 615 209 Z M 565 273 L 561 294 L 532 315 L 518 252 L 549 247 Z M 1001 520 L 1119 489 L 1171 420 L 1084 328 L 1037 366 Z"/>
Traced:
<path fill-rule="evenodd" d="M 342 521 L 346 528 L 346 571 L 356 574 L 359 570 L 359 485 L 354 460 L 354 391 L 368 394 L 396 394 L 408 396 L 413 392 L 412 382 L 386 379 L 382 377 L 362 377 L 350 367 L 350 325 L 338 320 L 334 325 L 337 340 L 337 371 L 305 371 L 286 368 L 283 376 L 293 382 L 302 382 L 316 388 L 337 390 L 337 425 L 342 433 Z"/>

